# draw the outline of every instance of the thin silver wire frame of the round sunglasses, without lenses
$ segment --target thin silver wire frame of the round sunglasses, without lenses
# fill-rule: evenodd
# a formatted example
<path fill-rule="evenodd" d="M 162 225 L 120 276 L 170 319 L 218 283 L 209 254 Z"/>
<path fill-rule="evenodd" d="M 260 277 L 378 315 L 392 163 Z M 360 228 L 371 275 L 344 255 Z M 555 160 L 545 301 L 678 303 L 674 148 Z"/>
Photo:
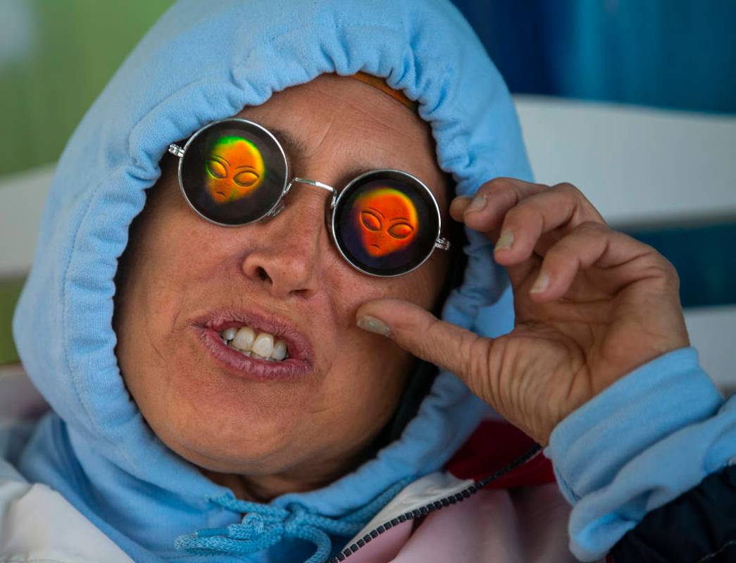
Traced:
<path fill-rule="evenodd" d="M 206 215 L 203 215 L 202 212 L 200 212 L 199 209 L 197 209 L 197 207 L 194 207 L 192 202 L 189 200 L 189 197 L 187 196 L 187 193 L 184 190 L 184 182 L 182 178 L 184 155 L 186 154 L 187 149 L 191 146 L 191 143 L 194 141 L 194 139 L 197 138 L 199 135 L 201 135 L 203 132 L 205 132 L 210 127 L 219 125 L 220 123 L 224 123 L 226 121 L 239 121 L 241 123 L 246 123 L 248 126 L 254 126 L 256 129 L 259 129 L 265 135 L 270 137 L 273 143 L 275 143 L 275 146 L 277 146 L 281 154 L 281 157 L 283 158 L 283 165 L 284 165 L 284 184 L 281 189 L 281 193 L 278 196 L 275 204 L 273 204 L 273 206 L 270 209 L 266 210 L 266 212 L 263 213 L 263 215 L 261 215 L 260 217 L 250 220 L 247 223 L 238 223 L 237 225 L 233 225 L 230 223 L 219 223 L 218 221 L 213 220 L 207 217 Z M 283 198 L 285 198 L 286 194 L 289 193 L 289 190 L 291 190 L 291 187 L 294 184 L 305 184 L 311 187 L 317 187 L 321 190 L 325 190 L 330 193 L 330 222 L 328 223 L 328 226 L 330 227 L 329 229 L 330 236 L 332 237 L 333 243 L 335 243 L 335 247 L 339 251 L 340 255 L 343 257 L 345 262 L 350 264 L 353 268 L 355 268 L 355 270 L 358 270 L 361 273 L 365 273 L 368 276 L 374 276 L 378 278 L 396 278 L 399 276 L 403 276 L 407 273 L 413 272 L 414 270 L 419 268 L 422 264 L 424 264 L 429 259 L 429 257 L 431 257 L 435 248 L 439 248 L 440 250 L 450 249 L 450 241 L 440 236 L 442 232 L 442 214 L 439 212 L 439 204 L 437 204 L 437 199 L 434 197 L 434 193 L 432 193 L 432 191 L 429 189 L 429 187 L 427 187 L 427 185 L 424 182 L 422 182 L 419 178 L 417 178 L 416 176 L 408 172 L 396 170 L 394 168 L 376 168 L 375 170 L 370 170 L 370 171 L 361 173 L 358 176 L 355 176 L 355 178 L 350 180 L 350 182 L 347 182 L 345 187 L 343 187 L 342 190 L 340 190 L 339 192 L 334 187 L 328 184 L 323 184 L 322 182 L 317 182 L 316 180 L 311 180 L 308 178 L 300 178 L 298 176 L 294 176 L 294 178 L 289 179 L 289 159 L 286 157 L 286 152 L 283 150 L 283 146 L 281 146 L 281 143 L 279 143 L 278 139 L 272 134 L 272 132 L 270 132 L 268 129 L 266 129 L 262 125 L 255 123 L 255 121 L 250 121 L 250 120 L 243 119 L 243 118 L 226 118 L 226 119 L 221 119 L 219 121 L 213 121 L 212 123 L 208 123 L 207 125 L 203 126 L 202 128 L 198 129 L 196 132 L 194 132 L 194 134 L 192 134 L 191 137 L 188 138 L 188 140 L 186 141 L 183 147 L 178 146 L 176 143 L 171 143 L 169 145 L 168 151 L 169 153 L 173 154 L 174 157 L 177 157 L 179 159 L 179 165 L 178 165 L 179 190 L 184 200 L 187 202 L 189 207 L 191 207 L 191 209 L 193 209 L 194 212 L 197 213 L 197 215 L 199 215 L 199 217 L 201 217 L 204 220 L 207 220 L 209 223 L 213 223 L 219 226 L 226 226 L 226 227 L 240 227 L 240 226 L 250 225 L 251 223 L 258 223 L 258 221 L 261 221 L 261 220 L 268 220 L 270 218 L 274 218 L 276 215 L 282 212 L 283 209 L 286 207 L 286 204 L 283 203 Z M 430 248 L 427 255 L 424 258 L 422 258 L 422 260 L 410 270 L 406 270 L 401 273 L 395 273 L 395 274 L 390 274 L 390 275 L 381 274 L 381 273 L 372 273 L 367 270 L 364 270 L 359 265 L 355 264 L 350 258 L 346 256 L 346 254 L 342 250 L 342 246 L 339 243 L 339 240 L 336 235 L 336 225 L 335 225 L 336 216 L 335 216 L 334 209 L 339 204 L 340 199 L 345 193 L 350 193 L 349 188 L 352 187 L 353 184 L 360 182 L 361 179 L 363 179 L 365 176 L 369 176 L 370 174 L 375 174 L 378 172 L 385 172 L 385 173 L 398 174 L 400 176 L 406 176 L 409 179 L 416 182 L 418 185 L 422 187 L 423 190 L 426 191 L 432 203 L 434 204 L 434 209 L 437 213 L 437 233 L 435 236 L 434 245 Z"/>

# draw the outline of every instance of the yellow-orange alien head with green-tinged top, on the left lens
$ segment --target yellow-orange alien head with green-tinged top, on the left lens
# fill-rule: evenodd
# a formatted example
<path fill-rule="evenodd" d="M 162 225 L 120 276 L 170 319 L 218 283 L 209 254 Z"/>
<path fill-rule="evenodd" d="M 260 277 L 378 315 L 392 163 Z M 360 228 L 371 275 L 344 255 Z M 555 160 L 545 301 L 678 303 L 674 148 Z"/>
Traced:
<path fill-rule="evenodd" d="M 220 138 L 205 160 L 207 191 L 219 204 L 249 196 L 263 181 L 263 156 L 242 137 Z"/>

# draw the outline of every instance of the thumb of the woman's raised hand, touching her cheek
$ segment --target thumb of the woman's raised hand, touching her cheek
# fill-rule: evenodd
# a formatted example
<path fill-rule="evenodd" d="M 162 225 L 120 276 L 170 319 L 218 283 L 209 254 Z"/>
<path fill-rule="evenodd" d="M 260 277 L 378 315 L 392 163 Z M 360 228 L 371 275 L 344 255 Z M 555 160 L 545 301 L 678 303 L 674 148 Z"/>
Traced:
<path fill-rule="evenodd" d="M 482 391 L 488 387 L 483 381 L 489 373 L 492 339 L 439 320 L 419 305 L 400 299 L 369 301 L 355 316 L 361 329 L 383 334 L 414 356 L 454 373 L 470 390 L 489 400 Z"/>

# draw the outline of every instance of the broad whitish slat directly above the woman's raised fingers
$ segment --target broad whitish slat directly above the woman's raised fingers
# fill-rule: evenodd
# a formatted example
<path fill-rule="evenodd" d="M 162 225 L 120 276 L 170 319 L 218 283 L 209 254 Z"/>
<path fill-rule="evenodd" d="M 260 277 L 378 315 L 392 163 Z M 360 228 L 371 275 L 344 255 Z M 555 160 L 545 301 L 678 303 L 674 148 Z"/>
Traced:
<path fill-rule="evenodd" d="M 514 98 L 537 182 L 575 184 L 609 223 L 736 220 L 736 115 Z"/>

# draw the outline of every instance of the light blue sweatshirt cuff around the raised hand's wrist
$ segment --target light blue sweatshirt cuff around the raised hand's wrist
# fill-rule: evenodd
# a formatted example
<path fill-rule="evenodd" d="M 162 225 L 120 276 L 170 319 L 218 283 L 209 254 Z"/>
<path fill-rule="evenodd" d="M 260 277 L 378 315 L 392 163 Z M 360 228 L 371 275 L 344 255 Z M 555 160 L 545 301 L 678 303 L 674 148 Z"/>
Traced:
<path fill-rule="evenodd" d="M 552 459 L 570 503 L 609 484 L 623 465 L 684 426 L 704 420 L 723 399 L 698 365 L 694 348 L 679 348 L 637 367 L 570 413 L 553 430 Z"/>

